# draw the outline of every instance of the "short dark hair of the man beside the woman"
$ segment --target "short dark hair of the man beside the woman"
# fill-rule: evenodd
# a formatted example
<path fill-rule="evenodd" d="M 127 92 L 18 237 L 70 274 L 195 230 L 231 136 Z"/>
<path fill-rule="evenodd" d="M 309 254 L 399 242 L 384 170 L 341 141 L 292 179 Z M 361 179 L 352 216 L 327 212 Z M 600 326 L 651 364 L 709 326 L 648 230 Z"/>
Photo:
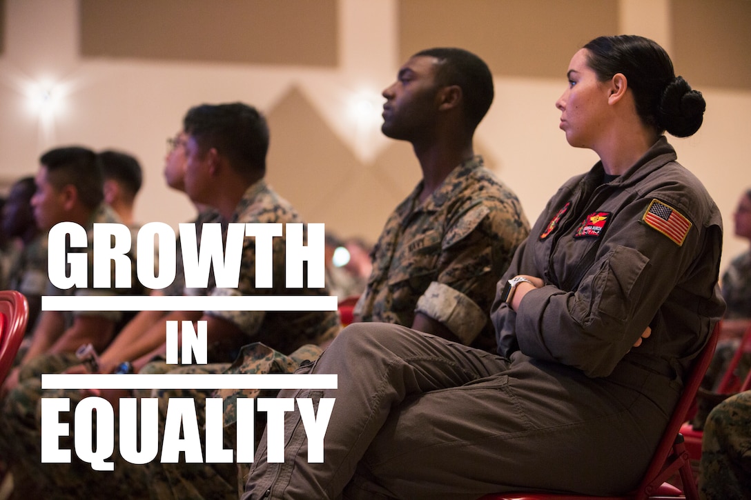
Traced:
<path fill-rule="evenodd" d="M 454 47 L 421 50 L 415 56 L 439 60 L 437 83 L 440 86 L 457 85 L 462 89 L 467 125 L 470 130 L 475 130 L 493 104 L 493 74 L 487 64 L 468 50 Z"/>

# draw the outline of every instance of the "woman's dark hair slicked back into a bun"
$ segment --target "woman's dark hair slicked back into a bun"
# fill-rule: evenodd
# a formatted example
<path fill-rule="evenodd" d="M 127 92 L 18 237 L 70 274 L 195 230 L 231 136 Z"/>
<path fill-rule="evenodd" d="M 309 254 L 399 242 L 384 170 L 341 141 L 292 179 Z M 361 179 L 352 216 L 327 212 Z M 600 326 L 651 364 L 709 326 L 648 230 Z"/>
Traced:
<path fill-rule="evenodd" d="M 599 80 L 610 80 L 617 73 L 626 76 L 636 112 L 645 124 L 676 137 L 689 137 L 701 127 L 707 107 L 701 92 L 675 76 L 670 56 L 655 41 L 619 35 L 595 38 L 584 48 Z"/>

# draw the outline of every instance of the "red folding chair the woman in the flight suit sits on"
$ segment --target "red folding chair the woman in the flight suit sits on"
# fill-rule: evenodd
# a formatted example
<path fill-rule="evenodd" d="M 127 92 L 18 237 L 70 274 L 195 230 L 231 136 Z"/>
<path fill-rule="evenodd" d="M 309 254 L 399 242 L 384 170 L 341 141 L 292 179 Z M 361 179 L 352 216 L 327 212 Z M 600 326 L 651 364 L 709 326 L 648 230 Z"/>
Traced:
<path fill-rule="evenodd" d="M 701 350 L 694 361 L 689 377 L 686 379 L 686 387 L 683 387 L 683 393 L 678 399 L 678 404 L 673 411 L 673 415 L 665 428 L 665 433 L 657 446 L 657 450 L 652 457 L 649 468 L 644 474 L 638 488 L 627 495 L 616 496 L 593 496 L 593 495 L 572 495 L 559 493 L 493 493 L 484 495 L 480 500 L 646 500 L 652 498 L 689 498 L 689 500 L 698 500 L 698 491 L 696 481 L 691 470 L 689 453 L 683 445 L 683 436 L 680 435 L 679 429 L 681 424 L 686 420 L 686 413 L 691 408 L 696 392 L 698 391 L 701 379 L 704 378 L 704 372 L 707 371 L 714 348 L 719 336 L 719 323 L 715 325 L 707 345 Z M 674 474 L 680 474 L 680 480 L 683 484 L 683 491 L 666 483 Z"/>

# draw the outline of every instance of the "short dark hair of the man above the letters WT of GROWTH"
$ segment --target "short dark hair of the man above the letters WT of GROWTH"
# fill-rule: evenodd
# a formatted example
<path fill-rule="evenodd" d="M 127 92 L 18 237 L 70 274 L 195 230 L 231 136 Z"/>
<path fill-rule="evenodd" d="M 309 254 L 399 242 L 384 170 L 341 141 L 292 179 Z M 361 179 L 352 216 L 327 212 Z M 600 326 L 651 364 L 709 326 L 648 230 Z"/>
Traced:
<path fill-rule="evenodd" d="M 182 125 L 202 151 L 216 148 L 237 173 L 266 171 L 269 128 L 255 107 L 240 102 L 201 104 L 185 114 Z"/>

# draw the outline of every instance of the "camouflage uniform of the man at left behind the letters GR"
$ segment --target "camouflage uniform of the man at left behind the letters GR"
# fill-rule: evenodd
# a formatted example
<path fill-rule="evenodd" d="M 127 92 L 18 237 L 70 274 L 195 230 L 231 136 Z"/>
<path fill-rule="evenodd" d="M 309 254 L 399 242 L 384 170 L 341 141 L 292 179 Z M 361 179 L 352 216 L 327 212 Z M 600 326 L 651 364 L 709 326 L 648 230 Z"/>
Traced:
<path fill-rule="evenodd" d="M 89 257 L 89 286 L 87 288 L 69 288 L 68 290 L 61 290 L 55 288 L 47 279 L 47 295 L 74 295 L 77 297 L 92 297 L 92 296 L 104 296 L 104 295 L 133 295 L 136 291 L 141 290 L 137 285 L 136 278 L 136 262 L 132 255 L 131 257 L 131 286 L 132 288 L 115 288 L 115 276 L 114 267 L 110 270 L 110 288 L 93 288 L 92 287 L 92 252 L 93 248 L 93 224 L 97 223 L 121 223 L 119 217 L 110 208 L 110 206 L 104 203 L 98 206 L 89 218 L 89 224 L 86 226 L 86 232 L 89 238 L 86 248 L 70 248 L 68 253 L 74 252 L 86 252 Z M 44 236 L 44 239 L 47 239 Z M 82 316 L 98 316 L 107 318 L 116 324 L 123 324 L 128 318 L 128 314 L 122 311 L 83 311 L 83 312 L 63 312 L 65 318 L 65 328 L 71 327 L 74 322 L 74 318 L 77 315 Z M 52 495 L 51 498 L 58 498 L 59 489 L 54 488 L 53 482 L 46 480 L 50 477 L 50 474 L 58 472 L 58 469 L 48 468 L 46 465 L 41 464 L 40 456 L 40 404 L 39 398 L 41 396 L 41 380 L 40 375 L 42 373 L 56 373 L 62 372 L 69 366 L 78 364 L 78 360 L 74 353 L 62 353 L 62 354 L 43 354 L 36 357 L 34 360 L 30 360 L 26 366 L 23 366 L 20 371 L 20 383 L 18 386 L 8 393 L 2 401 L 2 415 L 0 415 L 0 422 L 2 422 L 2 432 L 0 432 L 0 458 L 7 459 L 11 463 L 11 470 L 14 474 L 14 483 L 18 489 L 22 487 L 38 487 L 41 492 L 47 495 Z M 45 395 L 47 396 L 47 395 Z M 60 396 L 50 392 L 50 397 Z M 71 407 L 72 408 L 72 407 Z M 72 429 L 72 427 L 71 427 Z M 72 444 L 73 441 L 68 442 Z M 83 464 L 86 465 L 86 464 Z M 80 464 L 79 464 L 80 466 Z M 86 465 L 88 467 L 88 465 Z M 75 477 L 74 471 L 76 465 L 70 464 L 67 470 L 62 471 L 63 476 L 69 478 Z M 53 470 L 55 472 L 53 472 Z M 42 480 L 45 478 L 45 480 Z M 47 486 L 53 487 L 53 489 L 46 489 Z M 73 493 L 75 495 L 75 493 Z"/>

